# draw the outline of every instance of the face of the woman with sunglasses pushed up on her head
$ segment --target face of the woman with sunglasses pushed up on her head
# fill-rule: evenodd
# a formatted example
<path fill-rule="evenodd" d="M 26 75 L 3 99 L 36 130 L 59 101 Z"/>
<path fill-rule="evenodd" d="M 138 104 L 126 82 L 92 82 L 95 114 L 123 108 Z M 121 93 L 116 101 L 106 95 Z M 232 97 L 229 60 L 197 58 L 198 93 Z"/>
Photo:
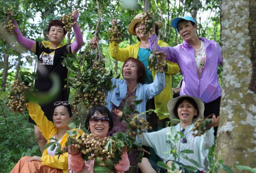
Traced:
<path fill-rule="evenodd" d="M 53 123 L 58 129 L 68 129 L 68 122 L 71 121 L 68 110 L 65 106 L 57 106 L 53 113 Z"/>

